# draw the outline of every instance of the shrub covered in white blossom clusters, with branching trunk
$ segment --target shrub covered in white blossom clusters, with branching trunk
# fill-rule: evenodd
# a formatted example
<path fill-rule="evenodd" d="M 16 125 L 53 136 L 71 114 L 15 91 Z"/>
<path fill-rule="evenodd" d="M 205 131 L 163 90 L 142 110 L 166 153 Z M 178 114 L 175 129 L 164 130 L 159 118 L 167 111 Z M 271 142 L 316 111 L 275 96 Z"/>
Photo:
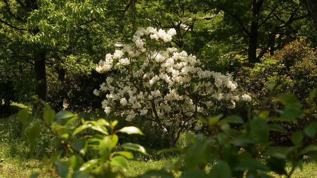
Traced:
<path fill-rule="evenodd" d="M 207 107 L 234 108 L 239 99 L 251 100 L 249 95 L 232 94 L 237 83 L 229 73 L 204 71 L 196 56 L 167 48 L 175 34 L 175 29 L 139 28 L 133 36 L 135 45 L 125 45 L 97 64 L 96 71 L 108 77 L 94 91 L 105 98 L 102 108 L 107 114 L 123 111 L 127 121 L 136 115 L 152 121 L 165 132 L 171 147 L 186 125 L 201 129 L 195 117 Z"/>

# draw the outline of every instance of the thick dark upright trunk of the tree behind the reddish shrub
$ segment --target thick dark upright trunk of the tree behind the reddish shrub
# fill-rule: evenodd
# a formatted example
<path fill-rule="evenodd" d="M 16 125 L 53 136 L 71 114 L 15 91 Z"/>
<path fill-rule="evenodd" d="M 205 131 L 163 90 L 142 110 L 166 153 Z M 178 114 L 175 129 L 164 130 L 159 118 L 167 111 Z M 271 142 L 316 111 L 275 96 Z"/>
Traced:
<path fill-rule="evenodd" d="M 263 0 L 254 0 L 253 1 L 253 21 L 251 22 L 250 33 L 249 33 L 249 49 L 248 49 L 248 57 L 249 63 L 260 62 L 258 58 L 256 58 L 256 49 L 257 49 L 257 35 L 258 35 L 258 25 L 259 25 L 259 14 L 260 8 L 263 4 Z"/>

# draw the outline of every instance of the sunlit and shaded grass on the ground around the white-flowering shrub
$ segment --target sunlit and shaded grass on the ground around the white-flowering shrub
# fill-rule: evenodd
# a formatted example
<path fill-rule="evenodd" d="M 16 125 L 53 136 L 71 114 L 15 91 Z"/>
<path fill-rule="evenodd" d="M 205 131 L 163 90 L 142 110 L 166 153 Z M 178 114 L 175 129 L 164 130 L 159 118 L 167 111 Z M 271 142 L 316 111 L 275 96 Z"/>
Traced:
<path fill-rule="evenodd" d="M 4 161 L 0 163 L 0 178 L 7 178 L 7 177 L 29 177 L 32 173 L 38 172 L 40 173 L 39 177 L 58 177 L 56 174 L 54 167 L 51 166 L 44 166 L 42 169 L 39 168 L 42 157 L 34 158 L 32 155 L 29 155 L 29 143 L 27 140 L 23 140 L 21 137 L 22 132 L 22 124 L 17 119 L 17 112 L 25 108 L 25 105 L 13 103 L 12 105 L 12 114 L 10 115 L 0 115 L 0 159 L 4 158 Z M 32 114 L 30 112 L 30 114 Z M 36 118 L 36 116 L 34 116 Z M 121 117 L 115 118 L 108 118 L 104 112 L 96 111 L 90 113 L 81 113 L 79 114 L 79 119 L 74 122 L 75 126 L 79 126 L 81 124 L 81 118 L 85 120 L 97 120 L 99 118 L 105 118 L 107 120 L 119 120 L 119 124 L 117 129 L 120 129 L 124 126 L 129 125 L 136 125 L 137 127 L 141 128 L 144 132 L 145 136 L 130 136 L 130 135 L 119 135 L 120 141 L 123 143 L 133 142 L 139 143 L 143 146 L 147 145 L 146 148 L 148 155 L 152 157 L 152 162 L 130 162 L 129 168 L 127 172 L 122 173 L 124 176 L 138 176 L 142 175 L 145 172 L 153 169 L 161 169 L 165 167 L 166 164 L 172 164 L 178 160 L 178 155 L 176 153 L 173 156 L 161 157 L 156 153 L 158 150 L 166 147 L 165 137 L 161 134 L 160 130 L 155 130 L 150 125 L 147 125 L 144 122 L 136 122 L 135 123 L 128 123 Z M 35 121 L 34 124 L 38 123 L 39 121 Z M 54 124 L 62 124 L 66 122 L 65 120 L 60 120 Z M 32 123 L 31 123 L 32 124 Z M 26 128 L 27 130 L 28 128 Z M 42 130 L 43 139 L 49 140 L 51 137 L 48 136 L 47 131 Z M 163 136 L 163 137 L 162 137 Z M 148 139 L 152 138 L 152 139 Z M 119 142 L 120 142 L 119 141 Z M 179 147 L 183 147 L 186 145 L 185 134 L 182 134 L 178 142 Z M 168 146 L 168 144 L 167 144 Z M 46 154 L 53 153 L 56 151 L 57 147 L 51 147 L 46 150 Z M 142 160 L 144 155 L 134 152 L 133 154 L 138 160 Z M 67 158 L 63 157 L 63 161 L 66 161 Z M 291 171 L 291 164 L 287 164 L 286 170 L 289 172 Z M 206 170 L 210 170 L 211 166 L 209 165 L 206 167 Z M 114 170 L 119 170 L 118 168 L 114 168 Z M 303 160 L 303 168 L 301 172 L 294 171 L 292 178 L 313 178 L 317 177 L 317 163 L 310 160 L 304 159 Z M 178 172 L 171 172 L 174 177 L 179 177 L 182 173 Z M 286 178 L 286 176 L 277 175 L 275 173 L 268 173 L 272 177 L 275 178 Z"/>

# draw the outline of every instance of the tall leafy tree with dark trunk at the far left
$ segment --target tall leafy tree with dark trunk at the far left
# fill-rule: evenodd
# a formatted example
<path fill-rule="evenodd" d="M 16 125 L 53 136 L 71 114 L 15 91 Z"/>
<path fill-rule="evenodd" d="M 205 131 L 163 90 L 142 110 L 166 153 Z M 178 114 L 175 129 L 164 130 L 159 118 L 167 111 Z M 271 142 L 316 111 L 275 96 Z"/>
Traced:
<path fill-rule="evenodd" d="M 47 55 L 53 49 L 63 48 L 77 35 L 76 30 L 90 23 L 113 22 L 133 4 L 126 1 L 49 1 L 4 0 L 0 3 L 0 26 L 7 26 L 25 37 L 30 51 L 23 49 L 34 65 L 36 94 L 46 100 Z M 57 46 L 59 45 L 59 46 Z M 18 48 L 18 46 L 17 46 Z M 74 49 L 75 50 L 75 49 Z M 11 51 L 13 56 L 15 51 Z"/>

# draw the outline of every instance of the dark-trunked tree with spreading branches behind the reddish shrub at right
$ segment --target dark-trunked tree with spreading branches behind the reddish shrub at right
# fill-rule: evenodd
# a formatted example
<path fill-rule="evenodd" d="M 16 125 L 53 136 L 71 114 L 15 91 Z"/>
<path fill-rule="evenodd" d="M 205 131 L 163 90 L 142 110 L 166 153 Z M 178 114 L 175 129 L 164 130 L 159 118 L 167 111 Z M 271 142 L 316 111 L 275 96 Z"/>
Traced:
<path fill-rule="evenodd" d="M 224 13 L 223 20 L 235 27 L 236 34 L 246 41 L 249 63 L 259 62 L 263 54 L 275 46 L 278 35 L 292 36 L 286 29 L 292 29 L 295 21 L 309 16 L 304 4 L 292 0 L 252 0 L 250 4 L 219 0 L 204 2 L 210 8 L 216 8 L 218 13 Z"/>

